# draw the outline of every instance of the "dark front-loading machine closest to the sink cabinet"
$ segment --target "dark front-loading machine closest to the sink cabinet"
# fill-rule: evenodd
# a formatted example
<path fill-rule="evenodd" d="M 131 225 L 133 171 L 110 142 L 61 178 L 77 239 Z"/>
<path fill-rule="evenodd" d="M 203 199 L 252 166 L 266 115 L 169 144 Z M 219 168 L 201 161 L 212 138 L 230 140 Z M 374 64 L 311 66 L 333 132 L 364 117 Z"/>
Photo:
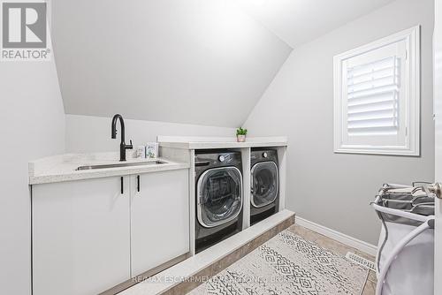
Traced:
<path fill-rule="evenodd" d="M 195 151 L 195 251 L 200 253 L 242 229 L 240 152 Z"/>

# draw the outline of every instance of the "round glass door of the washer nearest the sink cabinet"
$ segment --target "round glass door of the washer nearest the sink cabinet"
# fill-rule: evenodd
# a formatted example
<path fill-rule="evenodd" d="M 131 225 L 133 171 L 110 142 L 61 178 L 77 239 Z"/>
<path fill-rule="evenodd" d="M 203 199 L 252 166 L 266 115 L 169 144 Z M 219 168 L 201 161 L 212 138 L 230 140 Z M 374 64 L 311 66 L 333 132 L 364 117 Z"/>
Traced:
<path fill-rule="evenodd" d="M 197 217 L 204 227 L 228 223 L 240 215 L 242 176 L 236 167 L 206 170 L 197 184 Z"/>

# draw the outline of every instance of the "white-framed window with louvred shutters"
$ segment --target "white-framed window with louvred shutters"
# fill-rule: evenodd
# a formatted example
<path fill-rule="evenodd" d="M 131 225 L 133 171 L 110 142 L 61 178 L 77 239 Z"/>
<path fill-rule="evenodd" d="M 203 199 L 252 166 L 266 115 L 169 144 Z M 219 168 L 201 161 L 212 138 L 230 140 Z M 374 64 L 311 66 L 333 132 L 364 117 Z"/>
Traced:
<path fill-rule="evenodd" d="M 419 155 L 419 26 L 334 57 L 334 151 Z"/>

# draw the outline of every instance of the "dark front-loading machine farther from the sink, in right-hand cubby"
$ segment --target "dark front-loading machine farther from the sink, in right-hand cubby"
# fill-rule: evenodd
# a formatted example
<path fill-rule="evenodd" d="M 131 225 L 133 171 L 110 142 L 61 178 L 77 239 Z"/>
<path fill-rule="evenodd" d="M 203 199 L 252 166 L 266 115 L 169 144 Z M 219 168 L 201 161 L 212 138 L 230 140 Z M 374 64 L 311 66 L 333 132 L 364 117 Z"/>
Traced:
<path fill-rule="evenodd" d="M 250 167 L 250 224 L 255 224 L 278 212 L 278 152 L 252 149 Z"/>

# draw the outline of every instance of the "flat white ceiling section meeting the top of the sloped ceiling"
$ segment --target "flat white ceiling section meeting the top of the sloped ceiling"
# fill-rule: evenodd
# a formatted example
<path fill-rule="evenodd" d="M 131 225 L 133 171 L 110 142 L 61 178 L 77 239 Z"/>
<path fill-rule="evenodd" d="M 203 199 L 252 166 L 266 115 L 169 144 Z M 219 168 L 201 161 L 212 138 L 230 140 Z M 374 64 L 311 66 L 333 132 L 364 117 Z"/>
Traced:
<path fill-rule="evenodd" d="M 238 0 L 238 3 L 263 26 L 295 48 L 393 1 Z"/>

